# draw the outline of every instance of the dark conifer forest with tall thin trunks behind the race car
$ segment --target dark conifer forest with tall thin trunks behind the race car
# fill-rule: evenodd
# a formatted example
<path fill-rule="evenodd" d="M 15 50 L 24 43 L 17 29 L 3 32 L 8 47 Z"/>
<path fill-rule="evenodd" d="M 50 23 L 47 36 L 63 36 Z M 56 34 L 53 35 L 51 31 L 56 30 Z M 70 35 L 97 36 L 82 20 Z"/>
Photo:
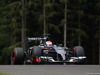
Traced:
<path fill-rule="evenodd" d="M 83 46 L 88 64 L 100 64 L 100 0 L 0 0 L 0 64 L 43 33 L 53 44 Z"/>

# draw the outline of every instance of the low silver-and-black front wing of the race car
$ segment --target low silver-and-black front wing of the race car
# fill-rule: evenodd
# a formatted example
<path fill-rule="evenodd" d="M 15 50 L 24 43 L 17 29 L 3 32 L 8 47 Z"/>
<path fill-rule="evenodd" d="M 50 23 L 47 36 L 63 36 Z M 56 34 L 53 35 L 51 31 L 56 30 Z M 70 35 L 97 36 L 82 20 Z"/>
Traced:
<path fill-rule="evenodd" d="M 86 56 L 71 57 L 69 60 L 54 60 L 53 57 L 41 56 L 38 62 L 48 62 L 48 63 L 84 63 L 86 61 Z"/>

